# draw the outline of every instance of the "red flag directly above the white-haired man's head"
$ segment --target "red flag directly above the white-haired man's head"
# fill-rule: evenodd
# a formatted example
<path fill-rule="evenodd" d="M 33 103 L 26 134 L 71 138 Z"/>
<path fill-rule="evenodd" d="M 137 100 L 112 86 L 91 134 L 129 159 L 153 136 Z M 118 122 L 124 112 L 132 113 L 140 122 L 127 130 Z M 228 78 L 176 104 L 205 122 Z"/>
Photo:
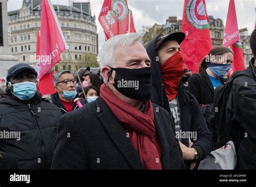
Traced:
<path fill-rule="evenodd" d="M 98 19 L 106 40 L 114 35 L 136 32 L 126 0 L 104 0 Z"/>

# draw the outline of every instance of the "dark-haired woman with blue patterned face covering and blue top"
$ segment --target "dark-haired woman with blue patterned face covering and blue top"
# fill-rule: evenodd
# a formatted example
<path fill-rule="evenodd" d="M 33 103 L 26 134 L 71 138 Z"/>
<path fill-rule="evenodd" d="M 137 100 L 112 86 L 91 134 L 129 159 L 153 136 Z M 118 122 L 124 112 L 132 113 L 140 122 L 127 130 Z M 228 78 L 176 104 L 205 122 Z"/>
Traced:
<path fill-rule="evenodd" d="M 201 61 L 199 74 L 193 74 L 187 80 L 186 90 L 190 91 L 201 105 L 212 104 L 214 90 L 226 80 L 223 76 L 231 68 L 234 53 L 230 48 L 213 48 Z"/>

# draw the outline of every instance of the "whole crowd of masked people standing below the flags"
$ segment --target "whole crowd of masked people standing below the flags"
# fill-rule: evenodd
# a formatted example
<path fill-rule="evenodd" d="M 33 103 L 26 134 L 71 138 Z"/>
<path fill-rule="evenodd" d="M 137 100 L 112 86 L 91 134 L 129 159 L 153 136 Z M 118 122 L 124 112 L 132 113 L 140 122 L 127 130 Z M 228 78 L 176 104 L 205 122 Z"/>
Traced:
<path fill-rule="evenodd" d="M 229 141 L 233 169 L 256 169 L 255 59 L 225 78 L 234 53 L 215 47 L 191 74 L 184 39 L 161 34 L 144 48 L 140 34 L 112 37 L 98 74 L 58 71 L 51 96 L 37 91 L 34 68 L 11 67 L 0 87 L 0 169 L 200 169 Z M 250 45 L 255 56 L 256 30 Z"/>

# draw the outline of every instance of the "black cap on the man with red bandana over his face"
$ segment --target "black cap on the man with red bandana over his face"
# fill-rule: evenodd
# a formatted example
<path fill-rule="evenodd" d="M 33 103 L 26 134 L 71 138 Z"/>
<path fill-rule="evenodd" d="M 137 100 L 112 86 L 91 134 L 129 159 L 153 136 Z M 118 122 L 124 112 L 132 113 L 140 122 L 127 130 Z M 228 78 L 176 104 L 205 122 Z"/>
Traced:
<path fill-rule="evenodd" d="M 185 37 L 186 35 L 184 32 L 174 32 L 169 35 L 160 34 L 156 39 L 156 49 L 158 49 L 159 46 L 165 41 L 176 40 L 178 44 L 180 44 L 185 39 Z"/>

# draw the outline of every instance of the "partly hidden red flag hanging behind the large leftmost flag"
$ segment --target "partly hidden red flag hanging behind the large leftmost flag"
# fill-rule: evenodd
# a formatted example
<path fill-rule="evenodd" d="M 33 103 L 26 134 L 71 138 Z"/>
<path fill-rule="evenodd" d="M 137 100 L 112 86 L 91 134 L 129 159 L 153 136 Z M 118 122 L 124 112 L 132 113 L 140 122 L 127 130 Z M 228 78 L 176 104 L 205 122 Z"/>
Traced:
<path fill-rule="evenodd" d="M 39 67 L 39 51 L 40 51 L 40 31 L 37 31 L 37 44 L 36 44 L 36 69 Z M 42 96 L 46 94 L 52 95 L 55 93 L 55 90 L 53 89 L 53 75 L 55 71 L 53 68 L 51 69 L 50 73 L 44 74 L 44 76 L 41 78 L 40 82 L 37 85 L 37 90 L 41 92 Z"/>

